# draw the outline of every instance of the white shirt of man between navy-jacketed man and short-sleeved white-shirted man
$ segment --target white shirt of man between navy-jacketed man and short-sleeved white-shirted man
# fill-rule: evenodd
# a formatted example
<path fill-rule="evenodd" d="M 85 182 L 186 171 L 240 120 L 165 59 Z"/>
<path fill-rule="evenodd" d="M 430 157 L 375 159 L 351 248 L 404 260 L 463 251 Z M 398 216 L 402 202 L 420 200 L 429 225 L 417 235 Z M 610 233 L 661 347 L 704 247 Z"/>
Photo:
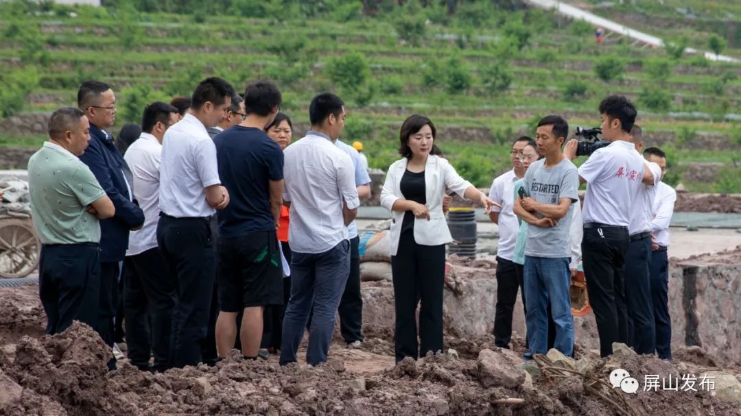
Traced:
<path fill-rule="evenodd" d="M 162 144 L 149 133 L 142 133 L 124 154 L 134 178 L 134 197 L 144 211 L 144 226 L 129 235 L 126 255 L 138 255 L 157 246 L 159 221 L 159 163 Z"/>

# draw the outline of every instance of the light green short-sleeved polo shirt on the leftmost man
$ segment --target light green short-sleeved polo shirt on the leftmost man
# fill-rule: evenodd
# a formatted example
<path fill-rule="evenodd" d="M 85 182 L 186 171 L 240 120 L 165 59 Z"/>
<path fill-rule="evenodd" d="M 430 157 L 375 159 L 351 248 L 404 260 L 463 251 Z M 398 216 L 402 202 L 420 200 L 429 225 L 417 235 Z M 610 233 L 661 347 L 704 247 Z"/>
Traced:
<path fill-rule="evenodd" d="M 28 160 L 28 189 L 41 244 L 100 242 L 98 218 L 87 206 L 105 192 L 77 156 L 45 141 Z"/>

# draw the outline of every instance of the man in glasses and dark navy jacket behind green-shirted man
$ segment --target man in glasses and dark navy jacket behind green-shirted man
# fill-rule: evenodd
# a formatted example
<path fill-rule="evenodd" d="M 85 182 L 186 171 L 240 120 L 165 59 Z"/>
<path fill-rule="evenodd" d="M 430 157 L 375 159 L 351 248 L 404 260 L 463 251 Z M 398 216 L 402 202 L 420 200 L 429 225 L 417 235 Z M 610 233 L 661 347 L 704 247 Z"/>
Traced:
<path fill-rule="evenodd" d="M 77 92 L 77 106 L 90 120 L 90 145 L 80 160 L 90 167 L 116 207 L 113 218 L 100 221 L 101 282 L 97 328 L 105 343 L 113 347 L 119 276 L 129 243 L 129 231 L 142 228 L 144 212 L 133 199 L 131 170 L 113 144 L 113 136 L 105 130 L 116 121 L 116 95 L 113 90 L 104 82 L 84 81 Z M 108 367 L 116 368 L 115 358 Z"/>

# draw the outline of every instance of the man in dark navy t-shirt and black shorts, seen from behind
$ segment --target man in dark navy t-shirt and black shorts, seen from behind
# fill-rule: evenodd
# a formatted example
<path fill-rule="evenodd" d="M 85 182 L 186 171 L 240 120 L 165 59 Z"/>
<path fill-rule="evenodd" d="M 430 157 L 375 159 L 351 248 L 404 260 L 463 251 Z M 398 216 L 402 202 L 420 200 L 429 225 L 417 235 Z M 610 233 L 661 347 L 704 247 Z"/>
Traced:
<path fill-rule="evenodd" d="M 263 308 L 283 303 L 276 235 L 282 205 L 283 152 L 264 131 L 278 113 L 281 99 L 277 87 L 268 81 L 247 85 L 247 117 L 213 139 L 219 177 L 231 198 L 227 209 L 219 212 L 216 349 L 221 358 L 234 346 L 236 317 L 242 311 L 242 355 L 256 358 Z"/>

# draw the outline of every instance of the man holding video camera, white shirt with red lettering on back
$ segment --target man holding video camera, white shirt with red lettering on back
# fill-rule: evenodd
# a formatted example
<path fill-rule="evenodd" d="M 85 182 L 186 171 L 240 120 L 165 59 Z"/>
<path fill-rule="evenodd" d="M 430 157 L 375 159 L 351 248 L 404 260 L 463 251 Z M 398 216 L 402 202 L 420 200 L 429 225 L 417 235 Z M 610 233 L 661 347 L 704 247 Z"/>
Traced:
<path fill-rule="evenodd" d="M 582 263 L 589 303 L 597 320 L 599 355 L 612 354 L 612 343 L 628 341 L 623 269 L 630 235 L 630 213 L 642 183 L 653 184 L 654 175 L 631 143 L 636 107 L 627 98 L 610 95 L 599 103 L 602 136 L 610 144 L 579 146 L 572 139 L 564 155 L 574 159 L 591 150 L 579 167 L 579 181 L 588 183 L 582 218 Z"/>

